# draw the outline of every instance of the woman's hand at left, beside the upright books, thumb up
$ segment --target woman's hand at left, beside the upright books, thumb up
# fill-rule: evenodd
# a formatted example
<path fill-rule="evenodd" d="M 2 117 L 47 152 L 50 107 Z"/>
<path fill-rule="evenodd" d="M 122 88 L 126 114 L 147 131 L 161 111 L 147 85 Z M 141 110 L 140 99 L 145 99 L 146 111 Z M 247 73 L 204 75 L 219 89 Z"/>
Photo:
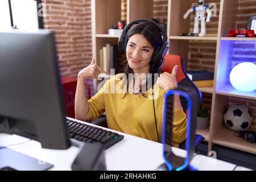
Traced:
<path fill-rule="evenodd" d="M 96 61 L 93 58 L 90 65 L 79 72 L 78 77 L 82 79 L 85 79 L 85 78 L 94 79 L 94 78 L 97 78 L 100 73 L 105 73 L 109 75 L 109 73 L 105 72 L 103 69 L 101 69 L 97 65 Z"/>

